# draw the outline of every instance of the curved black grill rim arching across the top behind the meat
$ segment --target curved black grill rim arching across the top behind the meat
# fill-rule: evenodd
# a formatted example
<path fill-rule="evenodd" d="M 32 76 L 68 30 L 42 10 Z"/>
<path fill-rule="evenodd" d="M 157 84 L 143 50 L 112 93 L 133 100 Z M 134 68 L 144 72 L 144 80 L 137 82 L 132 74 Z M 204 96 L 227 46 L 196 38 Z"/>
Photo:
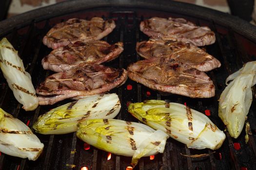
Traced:
<path fill-rule="evenodd" d="M 170 0 L 70 0 L 47 7 L 29 11 L 0 22 L 0 36 L 4 36 L 14 28 L 29 25 L 32 21 L 41 21 L 51 17 L 76 12 L 79 10 L 109 7 L 109 8 L 145 8 L 162 12 L 173 12 L 213 21 L 231 28 L 235 32 L 256 42 L 256 26 L 238 17 L 189 3 Z"/>

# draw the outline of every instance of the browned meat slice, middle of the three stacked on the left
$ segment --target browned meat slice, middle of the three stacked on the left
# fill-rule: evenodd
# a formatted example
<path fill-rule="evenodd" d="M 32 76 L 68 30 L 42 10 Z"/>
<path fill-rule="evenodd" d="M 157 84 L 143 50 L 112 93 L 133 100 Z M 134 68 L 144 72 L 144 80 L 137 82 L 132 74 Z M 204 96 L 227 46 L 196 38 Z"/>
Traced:
<path fill-rule="evenodd" d="M 105 41 L 77 41 L 68 46 L 59 47 L 42 59 L 44 69 L 56 72 L 81 67 L 88 64 L 100 64 L 113 60 L 123 51 L 123 43 L 110 45 Z"/>

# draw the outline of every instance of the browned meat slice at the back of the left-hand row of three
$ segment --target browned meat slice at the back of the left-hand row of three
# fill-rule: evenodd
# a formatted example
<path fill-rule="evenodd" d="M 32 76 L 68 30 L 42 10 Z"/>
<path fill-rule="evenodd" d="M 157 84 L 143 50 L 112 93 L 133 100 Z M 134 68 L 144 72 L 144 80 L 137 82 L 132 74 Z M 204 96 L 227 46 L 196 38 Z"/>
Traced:
<path fill-rule="evenodd" d="M 99 40 L 108 35 L 116 27 L 113 20 L 93 17 L 91 20 L 72 18 L 56 24 L 44 37 L 43 44 L 57 49 L 78 40 Z"/>

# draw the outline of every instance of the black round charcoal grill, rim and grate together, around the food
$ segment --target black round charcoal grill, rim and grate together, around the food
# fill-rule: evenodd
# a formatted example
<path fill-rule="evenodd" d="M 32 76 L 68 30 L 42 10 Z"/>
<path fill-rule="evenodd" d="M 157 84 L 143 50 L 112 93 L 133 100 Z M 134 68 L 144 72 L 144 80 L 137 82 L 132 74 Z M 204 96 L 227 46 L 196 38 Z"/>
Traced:
<path fill-rule="evenodd" d="M 217 116 L 218 98 L 225 88 L 226 77 L 241 68 L 244 63 L 256 60 L 256 27 L 237 17 L 211 9 L 168 0 L 71 0 L 49 7 L 37 9 L 0 22 L 0 37 L 7 37 L 31 74 L 33 84 L 39 85 L 44 78 L 52 74 L 43 70 L 40 61 L 51 50 L 42 44 L 42 37 L 56 23 L 72 17 L 86 18 L 98 16 L 112 18 L 117 27 L 104 40 L 113 44 L 124 43 L 124 51 L 119 58 L 106 65 L 115 68 L 127 68 L 129 63 L 141 58 L 137 55 L 136 42 L 148 37 L 139 31 L 139 23 L 149 17 L 183 17 L 201 26 L 209 26 L 217 36 L 215 44 L 204 47 L 222 64 L 220 68 L 207 74 L 216 86 L 216 96 L 210 99 L 190 99 L 179 95 L 164 96 L 144 85 L 130 79 L 116 89 L 122 109 L 117 119 L 138 121 L 127 112 L 127 103 L 148 99 L 162 99 L 179 102 L 208 115 L 221 129 L 225 126 Z M 256 88 L 253 88 L 254 96 Z M 50 106 L 39 106 L 35 111 L 25 112 L 16 101 L 2 73 L 0 73 L 0 107 L 13 114 L 29 127 L 39 115 L 66 101 Z M 69 101 L 68 101 L 69 102 Z M 251 125 L 249 142 L 244 140 L 245 132 L 234 139 L 225 132 L 227 138 L 217 151 L 208 149 L 188 149 L 174 139 L 168 139 L 164 153 L 140 159 L 135 170 L 256 170 L 256 100 L 254 98 L 248 114 Z M 28 161 L 6 154 L 0 154 L 0 170 L 126 170 L 130 166 L 131 157 L 108 153 L 92 146 L 88 147 L 76 137 L 75 133 L 67 135 L 40 135 L 44 143 L 44 151 L 37 161 Z M 203 154 L 200 158 L 185 157 L 182 154 Z M 83 168 L 84 167 L 84 168 Z"/>

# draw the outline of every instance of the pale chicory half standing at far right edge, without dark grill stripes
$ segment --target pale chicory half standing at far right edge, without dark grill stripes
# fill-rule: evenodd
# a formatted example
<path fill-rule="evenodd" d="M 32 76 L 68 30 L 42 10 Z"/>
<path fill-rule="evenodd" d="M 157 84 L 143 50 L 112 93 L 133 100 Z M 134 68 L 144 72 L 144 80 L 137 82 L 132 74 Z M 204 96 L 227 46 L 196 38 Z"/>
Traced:
<path fill-rule="evenodd" d="M 237 138 L 244 126 L 253 100 L 251 87 L 256 84 L 256 61 L 246 63 L 226 79 L 219 98 L 218 116 L 227 125 L 230 136 Z M 228 82 L 233 80 L 230 84 Z"/>

